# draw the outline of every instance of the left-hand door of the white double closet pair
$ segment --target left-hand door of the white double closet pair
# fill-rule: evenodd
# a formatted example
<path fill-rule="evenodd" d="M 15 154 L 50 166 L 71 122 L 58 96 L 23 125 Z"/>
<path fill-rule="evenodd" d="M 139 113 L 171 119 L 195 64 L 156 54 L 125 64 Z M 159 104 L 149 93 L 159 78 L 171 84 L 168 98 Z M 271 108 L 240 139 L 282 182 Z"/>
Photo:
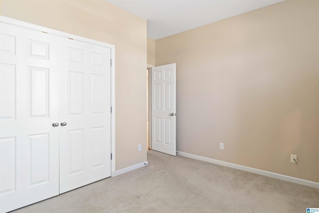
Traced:
<path fill-rule="evenodd" d="M 59 194 L 57 47 L 0 23 L 0 212 Z"/>

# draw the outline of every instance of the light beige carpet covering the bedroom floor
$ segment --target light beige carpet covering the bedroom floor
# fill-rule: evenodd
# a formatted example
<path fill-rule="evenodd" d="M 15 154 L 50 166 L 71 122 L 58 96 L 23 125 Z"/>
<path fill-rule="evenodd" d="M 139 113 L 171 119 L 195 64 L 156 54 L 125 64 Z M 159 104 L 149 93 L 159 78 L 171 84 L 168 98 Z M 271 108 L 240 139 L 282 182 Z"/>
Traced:
<path fill-rule="evenodd" d="M 319 190 L 148 151 L 149 166 L 14 213 L 306 213 Z"/>

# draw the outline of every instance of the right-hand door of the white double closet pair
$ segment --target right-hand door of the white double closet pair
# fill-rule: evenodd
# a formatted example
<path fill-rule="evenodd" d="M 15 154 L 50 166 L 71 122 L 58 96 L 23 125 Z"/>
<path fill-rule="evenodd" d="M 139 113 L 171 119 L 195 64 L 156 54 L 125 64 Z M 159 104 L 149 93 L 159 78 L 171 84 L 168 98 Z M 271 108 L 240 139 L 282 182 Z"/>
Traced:
<path fill-rule="evenodd" d="M 65 39 L 60 193 L 111 176 L 111 49 Z"/>

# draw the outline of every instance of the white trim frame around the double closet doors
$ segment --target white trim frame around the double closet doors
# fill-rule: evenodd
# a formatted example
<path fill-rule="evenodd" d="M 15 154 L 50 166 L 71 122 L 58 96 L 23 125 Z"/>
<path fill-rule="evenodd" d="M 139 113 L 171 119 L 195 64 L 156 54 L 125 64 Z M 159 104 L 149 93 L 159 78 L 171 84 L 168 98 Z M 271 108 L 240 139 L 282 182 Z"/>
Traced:
<path fill-rule="evenodd" d="M 102 41 L 93 40 L 90 38 L 85 38 L 85 37 L 74 35 L 74 34 L 70 34 L 67 32 L 58 31 L 55 29 L 50 29 L 47 27 L 27 23 L 24 21 L 16 20 L 16 19 L 9 18 L 9 17 L 2 16 L 2 15 L 0 15 L 0 22 L 12 24 L 12 25 L 17 25 L 17 26 L 22 26 L 22 27 L 26 27 L 29 29 L 34 29 L 37 31 L 42 31 L 45 33 L 50 33 L 53 35 L 58 35 L 58 36 L 66 37 L 69 39 L 83 41 L 86 43 L 91 43 L 91 44 L 95 44 L 95 45 L 99 45 L 99 46 L 103 46 L 103 47 L 107 47 L 107 48 L 111 49 L 111 61 L 110 61 L 110 63 L 111 63 L 111 107 L 112 107 L 112 113 L 111 113 L 111 154 L 112 154 L 111 177 L 113 177 L 112 174 L 115 172 L 115 159 L 116 159 L 116 156 L 115 156 L 115 153 L 116 153 L 115 152 L 115 45 L 104 43 Z M 111 158 L 111 156 L 110 156 L 110 158 Z"/>

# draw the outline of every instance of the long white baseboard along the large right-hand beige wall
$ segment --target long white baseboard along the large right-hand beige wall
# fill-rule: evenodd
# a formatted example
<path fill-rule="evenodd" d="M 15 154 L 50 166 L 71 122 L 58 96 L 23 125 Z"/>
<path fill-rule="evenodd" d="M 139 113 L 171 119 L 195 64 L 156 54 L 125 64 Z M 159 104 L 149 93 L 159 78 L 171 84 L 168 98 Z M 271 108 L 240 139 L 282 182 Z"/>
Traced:
<path fill-rule="evenodd" d="M 212 158 L 206 158 L 206 157 L 202 157 L 202 156 L 199 156 L 199 155 L 193 155 L 193 154 L 189 154 L 189 153 L 186 153 L 186 152 L 177 151 L 176 153 L 177 153 L 177 155 L 184 156 L 184 157 L 187 157 L 187 158 L 192 158 L 192 159 L 196 159 L 196 160 L 200 160 L 200 161 L 205 161 L 205 162 L 212 163 L 212 164 L 217 164 L 217 165 L 221 165 L 221 166 L 225 166 L 225 167 L 230 167 L 230 168 L 233 168 L 233 169 L 238 169 L 238 170 L 242 170 L 242 171 L 246 171 L 246 172 L 251 172 L 251 173 L 258 174 L 258 175 L 263 175 L 263 176 L 267 176 L 267 177 L 270 177 L 270 178 L 275 178 L 275 179 L 288 181 L 288 182 L 292 182 L 292 183 L 295 183 L 295 184 L 301 184 L 301 185 L 305 185 L 305 186 L 308 186 L 308 187 L 313 187 L 313 188 L 319 189 L 319 183 L 318 182 L 307 181 L 307 180 L 304 180 L 304 179 L 299 179 L 299 178 L 294 178 L 294 177 L 291 177 L 291 176 L 281 175 L 281 174 L 278 174 L 278 173 L 268 172 L 268 171 L 265 171 L 265 170 L 259 170 L 259 169 L 255 169 L 255 168 L 251 168 L 251 167 L 245 167 L 245 166 L 242 166 L 242 165 L 228 163 L 228 162 L 225 162 L 225 161 L 219 161 L 219 160 L 215 160 L 215 159 L 212 159 Z"/>

